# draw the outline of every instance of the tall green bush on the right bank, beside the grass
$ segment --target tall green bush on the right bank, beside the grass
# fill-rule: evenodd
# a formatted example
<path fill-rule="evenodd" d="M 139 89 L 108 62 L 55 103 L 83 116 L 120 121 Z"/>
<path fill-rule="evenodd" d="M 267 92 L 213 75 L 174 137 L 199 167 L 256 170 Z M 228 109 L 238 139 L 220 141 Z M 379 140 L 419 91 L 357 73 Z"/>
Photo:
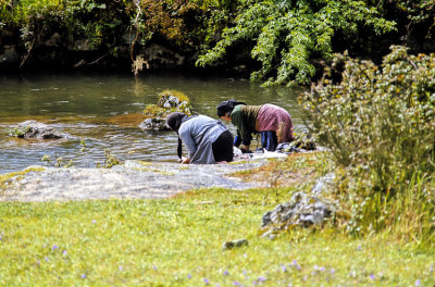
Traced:
<path fill-rule="evenodd" d="M 350 229 L 409 224 L 407 236 L 428 239 L 435 229 L 435 55 L 393 47 L 382 66 L 336 55 L 301 100 L 318 142 L 345 171 Z"/>

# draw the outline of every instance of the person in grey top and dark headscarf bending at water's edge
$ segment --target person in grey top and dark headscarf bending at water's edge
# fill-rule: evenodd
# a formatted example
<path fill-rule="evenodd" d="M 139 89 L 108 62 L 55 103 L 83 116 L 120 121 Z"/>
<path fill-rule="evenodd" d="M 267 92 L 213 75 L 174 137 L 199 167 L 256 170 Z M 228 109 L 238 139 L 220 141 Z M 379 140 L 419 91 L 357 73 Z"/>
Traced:
<path fill-rule="evenodd" d="M 182 163 L 211 164 L 233 161 L 234 138 L 220 120 L 174 112 L 166 116 L 166 126 L 178 135 L 177 154 Z M 182 142 L 187 149 L 187 158 L 183 158 Z"/>

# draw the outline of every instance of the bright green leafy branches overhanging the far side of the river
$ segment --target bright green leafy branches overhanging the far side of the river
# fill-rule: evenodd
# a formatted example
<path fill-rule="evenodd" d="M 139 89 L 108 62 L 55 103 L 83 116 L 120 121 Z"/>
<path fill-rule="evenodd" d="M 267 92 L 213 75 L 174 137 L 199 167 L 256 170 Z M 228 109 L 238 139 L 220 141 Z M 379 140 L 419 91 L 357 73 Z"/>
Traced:
<path fill-rule="evenodd" d="M 229 47 L 253 40 L 251 57 L 262 67 L 252 79 L 307 84 L 315 73 L 310 59 L 331 59 L 334 34 L 356 35 L 363 25 L 378 35 L 394 29 L 393 22 L 380 17 L 363 1 L 251 0 L 240 10 L 235 26 L 224 30 L 222 40 L 201 55 L 197 65 L 211 64 L 224 58 Z M 271 76 L 275 71 L 275 77 Z"/>

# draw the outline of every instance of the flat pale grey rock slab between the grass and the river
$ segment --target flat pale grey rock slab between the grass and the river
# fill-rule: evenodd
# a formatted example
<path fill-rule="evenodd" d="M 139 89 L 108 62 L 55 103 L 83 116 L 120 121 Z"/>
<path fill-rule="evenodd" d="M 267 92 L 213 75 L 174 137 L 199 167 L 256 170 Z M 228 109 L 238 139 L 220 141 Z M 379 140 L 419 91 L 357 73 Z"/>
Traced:
<path fill-rule="evenodd" d="M 0 180 L 3 185 L 0 201 L 158 199 L 199 188 L 248 189 L 264 184 L 244 183 L 228 175 L 264 163 L 264 160 L 256 160 L 233 164 L 182 165 L 127 161 L 112 169 L 34 166 L 2 175 L 9 178 Z"/>

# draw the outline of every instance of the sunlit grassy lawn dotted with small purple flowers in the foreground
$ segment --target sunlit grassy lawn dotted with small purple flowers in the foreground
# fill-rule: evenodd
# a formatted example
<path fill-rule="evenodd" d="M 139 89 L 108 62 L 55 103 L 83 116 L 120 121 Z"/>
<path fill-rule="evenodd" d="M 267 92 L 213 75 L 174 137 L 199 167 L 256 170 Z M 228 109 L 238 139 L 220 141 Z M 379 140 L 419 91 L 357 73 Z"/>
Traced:
<path fill-rule="evenodd" d="M 351 238 L 297 228 L 274 240 L 261 237 L 264 212 L 301 188 L 309 185 L 194 190 L 164 200 L 3 202 L 0 285 L 435 285 L 433 250 L 388 234 Z M 240 238 L 249 244 L 223 250 Z"/>

